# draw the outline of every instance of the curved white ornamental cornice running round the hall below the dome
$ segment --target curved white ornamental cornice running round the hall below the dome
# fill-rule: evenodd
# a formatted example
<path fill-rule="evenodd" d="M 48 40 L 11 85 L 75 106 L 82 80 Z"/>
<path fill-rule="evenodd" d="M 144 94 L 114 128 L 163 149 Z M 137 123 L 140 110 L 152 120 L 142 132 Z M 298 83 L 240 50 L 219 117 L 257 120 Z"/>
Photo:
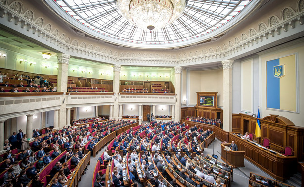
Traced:
<path fill-rule="evenodd" d="M 281 19 L 277 16 L 269 16 L 269 23 L 258 23 L 258 30 L 251 28 L 249 31 L 245 31 L 240 36 L 234 36 L 227 43 L 221 43 L 222 46 L 214 48 L 193 48 L 194 51 L 183 53 L 183 50 L 174 50 L 167 54 L 157 54 L 156 52 L 143 52 L 136 55 L 135 53 L 129 54 L 128 52 L 119 52 L 100 49 L 99 46 L 94 46 L 89 43 L 79 42 L 77 40 L 71 40 L 68 34 L 62 33 L 59 29 L 54 28 L 51 24 L 45 23 L 46 19 L 38 17 L 35 21 L 32 15 L 35 12 L 32 10 L 25 10 L 21 4 L 21 12 L 19 6 L 10 6 L 8 4 L 0 3 L 0 19 L 7 19 L 6 23 L 8 27 L 15 29 L 18 28 L 18 32 L 35 38 L 40 42 L 44 42 L 49 47 L 56 48 L 57 51 L 68 53 L 76 57 L 83 57 L 94 61 L 101 61 L 111 64 L 120 65 L 140 65 L 140 66 L 189 66 L 194 64 L 200 64 L 202 62 L 209 63 L 215 61 L 222 61 L 227 58 L 232 58 L 249 51 L 254 51 L 257 47 L 269 42 L 274 42 L 276 37 L 282 39 L 282 33 L 284 32 L 297 32 L 303 28 L 303 0 L 297 2 L 298 10 L 293 10 L 291 7 L 285 7 L 281 11 Z M 300 3 L 300 4 L 299 4 Z M 302 3 L 302 4 L 301 4 Z M 14 7 L 14 8 L 12 8 Z M 16 9 L 17 7 L 17 9 Z M 9 23 L 10 22 L 10 23 Z M 251 32 L 250 32 L 251 31 Z M 250 35 L 248 35 L 248 33 Z M 31 34 L 33 34 L 31 36 Z M 281 35 L 280 35 L 281 34 Z M 284 35 L 286 37 L 286 35 Z M 38 38 L 38 39 L 37 39 Z M 240 38 L 240 39 L 239 39 Z M 272 39 L 269 39 L 272 38 Z M 271 41 L 270 41 L 271 40 Z M 80 43 L 80 45 L 78 44 Z M 53 44 L 53 46 L 51 45 Z M 86 48 L 87 46 L 87 48 Z M 95 48 L 95 49 L 94 49 Z M 214 50 L 216 49 L 216 50 Z M 178 54 L 178 52 L 181 52 Z M 147 54 L 148 53 L 148 54 Z"/>

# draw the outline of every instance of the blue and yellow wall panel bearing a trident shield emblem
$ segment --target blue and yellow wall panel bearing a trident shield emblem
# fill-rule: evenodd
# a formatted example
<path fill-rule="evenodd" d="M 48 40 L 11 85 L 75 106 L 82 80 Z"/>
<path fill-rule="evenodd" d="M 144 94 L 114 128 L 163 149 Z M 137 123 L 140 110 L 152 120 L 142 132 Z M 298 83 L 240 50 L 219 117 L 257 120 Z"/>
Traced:
<path fill-rule="evenodd" d="M 297 111 L 296 55 L 267 61 L 267 108 Z"/>

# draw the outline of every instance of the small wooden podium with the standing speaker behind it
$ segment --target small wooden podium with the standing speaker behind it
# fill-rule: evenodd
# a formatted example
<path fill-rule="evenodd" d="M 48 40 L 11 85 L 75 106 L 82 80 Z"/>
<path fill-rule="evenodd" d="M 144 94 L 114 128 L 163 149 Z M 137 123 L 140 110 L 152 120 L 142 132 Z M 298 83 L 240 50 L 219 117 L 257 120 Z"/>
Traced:
<path fill-rule="evenodd" d="M 244 165 L 245 151 L 225 150 L 225 147 L 226 146 L 229 147 L 230 145 L 231 144 L 221 144 L 221 159 L 235 168 L 245 167 Z"/>

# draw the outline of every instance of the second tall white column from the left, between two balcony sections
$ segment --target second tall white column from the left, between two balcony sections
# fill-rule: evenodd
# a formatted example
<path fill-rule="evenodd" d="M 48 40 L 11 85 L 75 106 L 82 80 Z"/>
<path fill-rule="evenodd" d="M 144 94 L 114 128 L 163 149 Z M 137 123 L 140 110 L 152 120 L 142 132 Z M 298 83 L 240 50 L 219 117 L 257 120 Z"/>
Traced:
<path fill-rule="evenodd" d="M 113 106 L 113 118 L 118 119 L 118 93 L 119 93 L 119 80 L 120 80 L 120 68 L 121 65 L 114 64 L 113 65 L 113 92 L 115 94 L 115 102 Z"/>

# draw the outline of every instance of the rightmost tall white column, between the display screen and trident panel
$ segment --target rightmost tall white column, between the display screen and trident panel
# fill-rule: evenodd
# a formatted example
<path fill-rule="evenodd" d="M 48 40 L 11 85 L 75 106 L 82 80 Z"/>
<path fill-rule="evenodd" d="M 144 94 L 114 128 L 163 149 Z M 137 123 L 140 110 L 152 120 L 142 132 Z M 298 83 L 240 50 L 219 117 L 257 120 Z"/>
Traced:
<path fill-rule="evenodd" d="M 234 60 L 224 60 L 223 64 L 223 129 L 232 131 L 232 68 Z"/>

